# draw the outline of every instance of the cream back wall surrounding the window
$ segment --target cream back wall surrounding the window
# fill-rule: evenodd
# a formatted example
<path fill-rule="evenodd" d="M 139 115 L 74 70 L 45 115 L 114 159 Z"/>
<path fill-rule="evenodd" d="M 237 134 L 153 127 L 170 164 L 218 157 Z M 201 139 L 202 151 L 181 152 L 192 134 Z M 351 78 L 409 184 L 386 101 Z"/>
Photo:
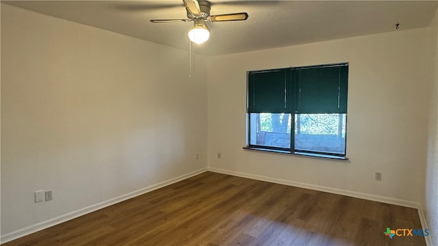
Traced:
<path fill-rule="evenodd" d="M 415 206 L 426 162 L 428 28 L 209 57 L 209 168 Z M 256 41 L 255 41 L 256 42 Z M 335 161 L 242 150 L 246 71 L 349 66 L 347 157 Z M 217 158 L 217 153 L 222 158 Z M 374 180 L 382 172 L 382 181 Z M 383 200 L 388 200 L 388 199 Z M 379 198 L 380 199 L 380 198 Z"/>

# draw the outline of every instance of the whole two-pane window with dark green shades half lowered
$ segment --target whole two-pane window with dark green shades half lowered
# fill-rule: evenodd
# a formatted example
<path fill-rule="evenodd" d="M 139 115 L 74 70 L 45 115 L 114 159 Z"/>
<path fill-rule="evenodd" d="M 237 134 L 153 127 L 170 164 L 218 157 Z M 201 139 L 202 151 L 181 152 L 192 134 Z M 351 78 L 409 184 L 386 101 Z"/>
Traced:
<path fill-rule="evenodd" d="M 348 64 L 248 72 L 248 147 L 346 156 Z"/>

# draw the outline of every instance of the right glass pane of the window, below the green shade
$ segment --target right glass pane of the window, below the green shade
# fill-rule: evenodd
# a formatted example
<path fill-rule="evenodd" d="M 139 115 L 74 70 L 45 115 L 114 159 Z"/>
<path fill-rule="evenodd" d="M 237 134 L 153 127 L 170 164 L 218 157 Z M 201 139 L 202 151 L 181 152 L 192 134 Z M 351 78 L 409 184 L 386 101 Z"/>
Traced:
<path fill-rule="evenodd" d="M 346 113 L 295 115 L 295 150 L 345 154 Z"/>

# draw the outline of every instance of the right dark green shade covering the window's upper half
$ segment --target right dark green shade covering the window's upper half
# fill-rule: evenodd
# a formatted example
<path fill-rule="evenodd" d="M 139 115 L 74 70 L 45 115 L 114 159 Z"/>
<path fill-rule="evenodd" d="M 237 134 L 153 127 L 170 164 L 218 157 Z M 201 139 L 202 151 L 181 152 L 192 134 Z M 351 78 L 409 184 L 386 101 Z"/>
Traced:
<path fill-rule="evenodd" d="M 347 113 L 348 65 L 295 68 L 296 113 Z"/>

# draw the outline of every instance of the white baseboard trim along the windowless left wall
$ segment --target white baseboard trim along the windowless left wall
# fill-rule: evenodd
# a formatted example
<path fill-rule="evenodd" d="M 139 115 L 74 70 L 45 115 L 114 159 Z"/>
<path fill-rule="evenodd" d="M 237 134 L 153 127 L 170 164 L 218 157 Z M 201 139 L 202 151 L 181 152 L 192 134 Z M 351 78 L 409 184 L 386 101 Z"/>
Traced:
<path fill-rule="evenodd" d="M 130 193 L 127 193 L 125 195 L 120 195 L 118 197 L 114 197 L 110 200 L 106 200 L 104 202 L 99 202 L 98 204 L 94 204 L 92 206 L 88 206 L 86 208 L 81 208 L 79 210 L 75 210 L 73 212 L 67 213 L 65 215 L 61 215 L 58 217 L 55 217 L 53 219 L 49 219 L 47 221 L 42 221 L 40 223 L 36 223 L 33 226 L 29 226 L 27 228 L 23 228 L 20 230 L 16 230 L 15 232 L 10 232 L 5 235 L 1 235 L 0 237 L 0 243 L 7 243 L 9 241 L 12 241 L 16 238 L 21 238 L 22 236 L 27 236 L 29 234 L 32 234 L 34 232 L 38 232 L 40 230 L 44 230 L 46 228 L 49 228 L 51 226 L 55 226 L 57 224 L 63 223 L 65 221 L 69 221 L 70 219 L 75 219 L 77 217 L 80 217 L 82 215 L 86 215 L 88 213 L 92 213 L 96 210 L 99 210 L 101 208 L 105 208 L 107 206 L 111 206 L 113 204 L 116 204 L 118 202 L 123 202 L 125 200 L 131 199 L 132 197 L 136 197 L 138 195 L 143 195 L 144 193 L 148 193 L 151 191 L 154 191 L 156 189 L 166 187 L 169 184 L 173 184 L 175 182 L 179 182 L 181 180 L 185 180 L 186 178 L 190 178 L 192 176 L 196 176 L 198 174 L 202 174 L 203 172 L 207 172 L 207 168 L 198 169 L 194 172 L 190 172 L 188 174 L 183 174 L 181 176 L 178 176 L 176 178 L 171 178 L 170 180 L 166 180 L 163 182 L 159 182 L 157 184 L 153 184 L 149 187 L 144 187 L 142 189 L 138 189 L 137 191 L 133 191 Z"/>

